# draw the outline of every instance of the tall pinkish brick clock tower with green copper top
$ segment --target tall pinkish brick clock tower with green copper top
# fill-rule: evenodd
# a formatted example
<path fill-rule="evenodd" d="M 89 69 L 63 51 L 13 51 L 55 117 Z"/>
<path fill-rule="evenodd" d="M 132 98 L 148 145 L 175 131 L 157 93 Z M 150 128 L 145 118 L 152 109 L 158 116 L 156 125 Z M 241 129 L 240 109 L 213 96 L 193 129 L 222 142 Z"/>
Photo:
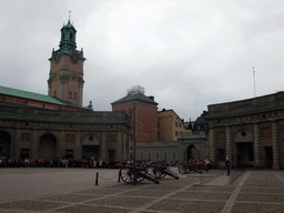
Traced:
<path fill-rule="evenodd" d="M 82 106 L 83 50 L 77 50 L 77 30 L 68 20 L 61 28 L 59 49 L 52 51 L 49 73 L 49 95 Z"/>

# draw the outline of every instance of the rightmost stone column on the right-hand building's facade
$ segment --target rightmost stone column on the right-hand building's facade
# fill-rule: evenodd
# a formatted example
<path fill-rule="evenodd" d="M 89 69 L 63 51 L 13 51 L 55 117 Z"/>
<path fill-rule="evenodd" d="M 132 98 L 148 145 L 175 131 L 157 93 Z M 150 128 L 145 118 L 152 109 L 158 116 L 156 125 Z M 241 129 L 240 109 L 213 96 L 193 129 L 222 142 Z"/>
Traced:
<path fill-rule="evenodd" d="M 276 121 L 272 122 L 273 170 L 280 170 L 280 144 Z"/>

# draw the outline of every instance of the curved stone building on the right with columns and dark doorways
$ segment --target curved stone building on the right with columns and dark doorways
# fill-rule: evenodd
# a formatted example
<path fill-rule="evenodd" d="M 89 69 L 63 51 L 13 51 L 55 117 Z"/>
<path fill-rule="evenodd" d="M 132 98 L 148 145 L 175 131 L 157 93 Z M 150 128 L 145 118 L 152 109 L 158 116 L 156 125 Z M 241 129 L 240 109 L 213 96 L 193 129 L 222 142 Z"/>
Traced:
<path fill-rule="evenodd" d="M 210 158 L 217 165 L 284 168 L 284 92 L 209 105 Z"/>

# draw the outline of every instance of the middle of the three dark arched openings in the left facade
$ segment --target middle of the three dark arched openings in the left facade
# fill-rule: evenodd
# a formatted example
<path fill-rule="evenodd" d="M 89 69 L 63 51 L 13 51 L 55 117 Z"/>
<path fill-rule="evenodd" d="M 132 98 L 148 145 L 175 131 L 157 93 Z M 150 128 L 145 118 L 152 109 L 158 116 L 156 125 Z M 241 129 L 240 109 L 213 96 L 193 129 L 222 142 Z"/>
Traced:
<path fill-rule="evenodd" d="M 40 138 L 38 158 L 40 159 L 57 158 L 57 139 L 53 134 L 43 134 Z"/>

